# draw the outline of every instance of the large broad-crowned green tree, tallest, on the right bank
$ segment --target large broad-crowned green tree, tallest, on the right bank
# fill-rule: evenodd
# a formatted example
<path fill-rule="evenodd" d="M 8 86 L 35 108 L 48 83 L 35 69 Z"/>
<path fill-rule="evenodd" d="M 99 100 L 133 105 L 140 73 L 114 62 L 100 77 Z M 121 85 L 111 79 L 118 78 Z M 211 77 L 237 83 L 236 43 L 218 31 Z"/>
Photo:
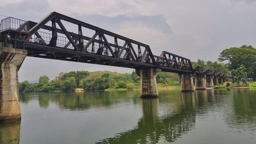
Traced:
<path fill-rule="evenodd" d="M 250 74 L 255 80 L 256 77 L 256 49 L 251 45 L 241 47 L 231 47 L 223 50 L 218 58 L 219 61 L 229 61 L 229 69 L 237 69 L 241 65 L 246 68 L 247 74 Z"/>

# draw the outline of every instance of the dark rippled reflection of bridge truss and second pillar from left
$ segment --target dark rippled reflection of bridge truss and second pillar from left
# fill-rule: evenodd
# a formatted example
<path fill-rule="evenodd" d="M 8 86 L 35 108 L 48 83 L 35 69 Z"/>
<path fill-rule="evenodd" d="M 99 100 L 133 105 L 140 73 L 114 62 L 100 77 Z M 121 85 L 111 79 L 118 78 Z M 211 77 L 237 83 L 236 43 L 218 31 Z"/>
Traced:
<path fill-rule="evenodd" d="M 190 101 L 191 96 L 184 96 L 184 101 Z M 158 98 L 141 99 L 143 117 L 132 130 L 118 133 L 113 138 L 107 138 L 97 142 L 98 144 L 108 143 L 158 143 L 161 141 L 173 142 L 182 134 L 194 127 L 195 114 L 191 109 L 191 103 L 184 103 L 183 106 L 175 105 L 171 109 L 179 111 L 158 115 Z M 178 110 L 177 110 L 178 109 Z"/>

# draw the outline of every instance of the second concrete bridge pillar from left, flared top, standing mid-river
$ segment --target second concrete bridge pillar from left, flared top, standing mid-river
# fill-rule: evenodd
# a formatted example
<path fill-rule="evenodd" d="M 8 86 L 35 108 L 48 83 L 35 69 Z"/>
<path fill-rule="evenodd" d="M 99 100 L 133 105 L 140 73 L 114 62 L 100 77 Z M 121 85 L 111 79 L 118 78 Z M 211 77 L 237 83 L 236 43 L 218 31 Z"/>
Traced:
<path fill-rule="evenodd" d="M 158 97 L 156 76 L 161 69 L 137 69 L 136 74 L 140 77 L 140 97 Z"/>

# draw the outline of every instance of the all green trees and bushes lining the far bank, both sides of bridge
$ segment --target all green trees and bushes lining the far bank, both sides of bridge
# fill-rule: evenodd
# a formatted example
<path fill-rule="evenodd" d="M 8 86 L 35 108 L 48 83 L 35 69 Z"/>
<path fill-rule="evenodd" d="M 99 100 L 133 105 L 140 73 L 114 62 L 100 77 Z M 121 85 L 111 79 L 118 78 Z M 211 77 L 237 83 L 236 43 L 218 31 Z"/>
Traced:
<path fill-rule="evenodd" d="M 204 61 L 198 59 L 191 62 L 192 67 L 200 66 L 203 70 L 224 73 L 231 76 L 234 82 L 246 83 L 246 78 L 251 75 L 253 80 L 256 77 L 256 49 L 252 46 L 243 45 L 223 50 L 218 58 L 219 61 L 228 60 L 227 64 L 217 61 Z M 180 81 L 176 73 L 161 72 L 156 77 L 157 84 L 163 87 L 174 85 L 175 81 Z M 254 85 L 252 83 L 251 85 Z M 84 90 L 104 90 L 107 88 L 139 89 L 140 77 L 133 71 L 129 73 L 117 73 L 110 71 L 71 71 L 61 72 L 55 79 L 48 76 L 40 76 L 38 83 L 28 81 L 19 84 L 20 92 L 49 92 L 49 91 L 73 91 L 76 88 Z"/>

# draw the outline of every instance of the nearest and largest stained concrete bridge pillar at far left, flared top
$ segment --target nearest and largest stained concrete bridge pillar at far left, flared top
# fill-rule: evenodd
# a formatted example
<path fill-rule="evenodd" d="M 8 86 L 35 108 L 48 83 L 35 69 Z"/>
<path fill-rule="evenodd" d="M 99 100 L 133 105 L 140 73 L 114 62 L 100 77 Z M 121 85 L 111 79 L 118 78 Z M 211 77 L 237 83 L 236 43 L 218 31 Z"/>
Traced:
<path fill-rule="evenodd" d="M 0 47 L 0 123 L 19 121 L 18 69 L 27 55 L 27 50 Z"/>

